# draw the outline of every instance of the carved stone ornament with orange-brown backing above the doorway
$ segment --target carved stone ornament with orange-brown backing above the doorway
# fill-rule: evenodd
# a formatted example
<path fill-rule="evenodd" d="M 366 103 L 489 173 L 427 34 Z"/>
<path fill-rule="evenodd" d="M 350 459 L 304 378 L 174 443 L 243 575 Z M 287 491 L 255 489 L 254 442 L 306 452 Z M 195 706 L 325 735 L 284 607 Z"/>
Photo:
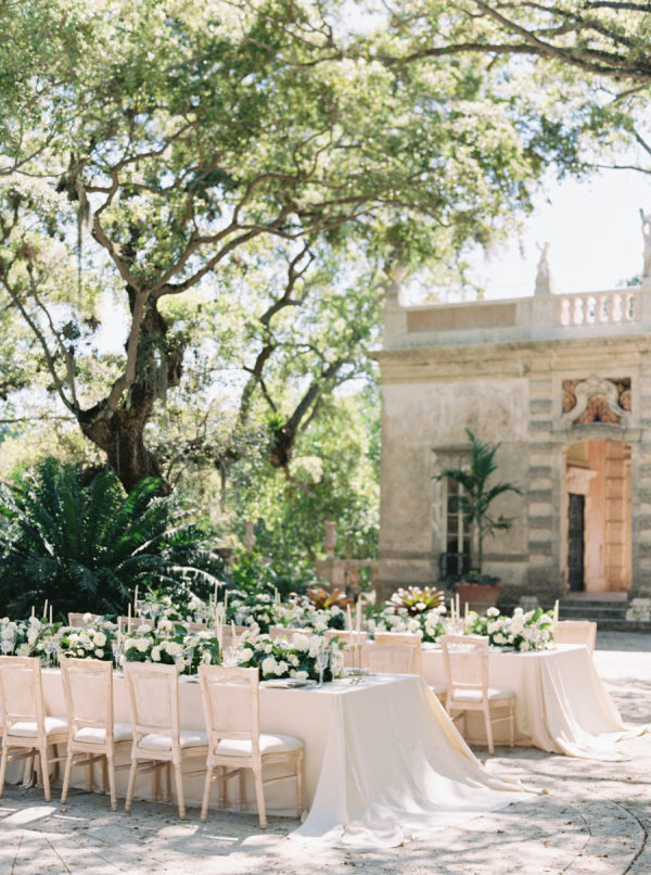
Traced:
<path fill-rule="evenodd" d="M 591 422 L 630 424 L 630 377 L 563 381 L 561 426 L 585 426 Z"/>

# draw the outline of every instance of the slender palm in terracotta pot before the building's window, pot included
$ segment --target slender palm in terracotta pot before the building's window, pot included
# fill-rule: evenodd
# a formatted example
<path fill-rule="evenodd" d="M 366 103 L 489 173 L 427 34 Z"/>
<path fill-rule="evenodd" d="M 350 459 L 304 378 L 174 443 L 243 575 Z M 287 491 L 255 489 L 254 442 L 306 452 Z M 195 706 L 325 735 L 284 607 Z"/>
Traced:
<path fill-rule="evenodd" d="M 463 489 L 459 496 L 459 509 L 464 522 L 472 527 L 471 553 L 474 561 L 469 574 L 455 583 L 455 591 L 472 610 L 483 610 L 496 604 L 502 586 L 498 578 L 483 573 L 484 540 L 496 531 L 510 529 L 513 522 L 501 513 L 496 516 L 493 505 L 503 493 L 520 494 L 520 490 L 511 483 L 488 482 L 497 470 L 495 454 L 499 444 L 480 441 L 470 429 L 465 429 L 465 433 L 470 441 L 470 466 L 447 468 L 436 479 L 450 478 Z"/>

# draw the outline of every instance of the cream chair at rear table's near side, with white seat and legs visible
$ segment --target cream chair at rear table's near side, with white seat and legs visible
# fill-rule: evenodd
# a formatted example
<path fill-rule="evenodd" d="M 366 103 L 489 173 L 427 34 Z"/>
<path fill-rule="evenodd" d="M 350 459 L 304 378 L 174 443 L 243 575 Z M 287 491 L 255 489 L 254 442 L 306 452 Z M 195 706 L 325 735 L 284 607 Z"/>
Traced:
<path fill-rule="evenodd" d="M 452 720 L 465 713 L 484 714 L 488 752 L 494 753 L 493 724 L 509 722 L 509 741 L 515 735 L 515 694 L 511 689 L 493 687 L 488 677 L 488 638 L 481 635 L 443 635 L 443 660 L 446 680 L 445 707 Z M 496 713 L 501 712 L 501 713 Z"/>

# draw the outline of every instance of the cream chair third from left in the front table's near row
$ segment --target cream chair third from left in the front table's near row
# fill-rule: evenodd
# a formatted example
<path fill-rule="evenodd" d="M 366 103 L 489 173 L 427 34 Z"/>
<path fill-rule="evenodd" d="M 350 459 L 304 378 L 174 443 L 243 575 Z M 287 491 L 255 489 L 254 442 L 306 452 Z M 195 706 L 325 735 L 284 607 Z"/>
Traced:
<path fill-rule="evenodd" d="M 131 705 L 131 768 L 125 811 L 131 810 L 136 776 L 140 772 L 155 776 L 154 800 L 158 796 L 158 773 L 165 769 L 169 799 L 169 769 L 176 779 L 179 817 L 186 817 L 183 794 L 183 761 L 205 760 L 207 736 L 202 732 L 181 730 L 179 713 L 179 679 L 176 665 L 151 662 L 125 662 L 129 701 Z M 205 768 L 186 773 L 186 777 L 203 774 Z"/>

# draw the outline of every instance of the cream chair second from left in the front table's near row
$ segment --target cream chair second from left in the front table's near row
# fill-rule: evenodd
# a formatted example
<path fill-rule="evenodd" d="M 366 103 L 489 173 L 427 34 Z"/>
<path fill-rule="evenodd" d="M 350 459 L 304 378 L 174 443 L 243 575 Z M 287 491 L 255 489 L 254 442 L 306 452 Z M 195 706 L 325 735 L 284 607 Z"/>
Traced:
<path fill-rule="evenodd" d="M 102 763 L 103 790 L 117 809 L 115 756 L 131 744 L 131 727 L 113 720 L 113 665 L 99 659 L 61 658 L 69 737 L 61 801 L 67 799 L 75 765 L 86 766 L 86 789 L 93 783 L 93 764 Z M 125 766 L 122 766 L 123 769 Z"/>

